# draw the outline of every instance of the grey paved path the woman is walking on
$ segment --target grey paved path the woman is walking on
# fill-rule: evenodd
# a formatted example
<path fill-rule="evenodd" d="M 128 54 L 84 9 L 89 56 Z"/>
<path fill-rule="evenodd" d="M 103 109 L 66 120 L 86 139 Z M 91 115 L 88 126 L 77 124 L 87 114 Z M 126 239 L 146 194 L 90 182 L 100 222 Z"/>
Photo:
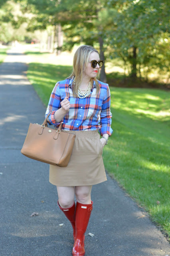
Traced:
<path fill-rule="evenodd" d="M 42 123 L 45 114 L 26 78 L 26 58 L 13 48 L 0 66 L 0 256 L 71 256 L 71 225 L 57 207 L 49 167 L 20 153 L 30 122 Z M 93 186 L 86 256 L 170 256 L 162 233 L 107 178 Z"/>

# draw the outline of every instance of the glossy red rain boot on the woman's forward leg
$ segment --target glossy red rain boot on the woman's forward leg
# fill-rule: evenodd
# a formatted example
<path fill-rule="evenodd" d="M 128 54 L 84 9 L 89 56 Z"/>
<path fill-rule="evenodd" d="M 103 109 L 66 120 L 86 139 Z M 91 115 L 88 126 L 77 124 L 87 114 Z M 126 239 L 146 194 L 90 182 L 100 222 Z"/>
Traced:
<path fill-rule="evenodd" d="M 89 218 L 91 211 L 93 209 L 93 202 L 91 204 L 80 204 L 77 202 L 76 212 L 75 212 L 75 242 L 73 246 L 72 254 L 73 256 L 84 256 L 84 234 L 89 223 Z"/>

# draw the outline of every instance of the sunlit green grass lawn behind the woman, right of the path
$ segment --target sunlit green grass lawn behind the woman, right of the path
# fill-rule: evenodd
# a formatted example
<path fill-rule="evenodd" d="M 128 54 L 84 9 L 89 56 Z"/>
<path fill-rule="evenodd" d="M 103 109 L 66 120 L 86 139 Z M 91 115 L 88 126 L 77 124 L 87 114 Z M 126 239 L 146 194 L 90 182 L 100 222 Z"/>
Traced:
<path fill-rule="evenodd" d="M 30 56 L 28 78 L 47 106 L 55 83 L 70 74 L 70 63 L 45 63 L 44 54 L 43 63 L 38 63 L 37 54 Z M 103 150 L 105 168 L 170 236 L 169 93 L 146 88 L 110 90 L 113 135 Z"/>

